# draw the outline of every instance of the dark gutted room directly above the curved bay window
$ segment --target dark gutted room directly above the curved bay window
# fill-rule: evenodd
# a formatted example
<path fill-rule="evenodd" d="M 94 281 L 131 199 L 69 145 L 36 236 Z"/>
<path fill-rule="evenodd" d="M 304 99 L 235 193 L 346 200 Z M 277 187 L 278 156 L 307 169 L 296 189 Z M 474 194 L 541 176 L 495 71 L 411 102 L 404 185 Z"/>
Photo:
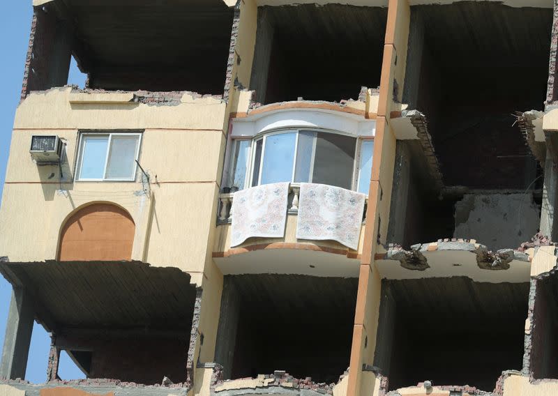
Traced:
<path fill-rule="evenodd" d="M 250 89 L 261 103 L 357 99 L 379 86 L 387 8 L 261 6 Z"/>

